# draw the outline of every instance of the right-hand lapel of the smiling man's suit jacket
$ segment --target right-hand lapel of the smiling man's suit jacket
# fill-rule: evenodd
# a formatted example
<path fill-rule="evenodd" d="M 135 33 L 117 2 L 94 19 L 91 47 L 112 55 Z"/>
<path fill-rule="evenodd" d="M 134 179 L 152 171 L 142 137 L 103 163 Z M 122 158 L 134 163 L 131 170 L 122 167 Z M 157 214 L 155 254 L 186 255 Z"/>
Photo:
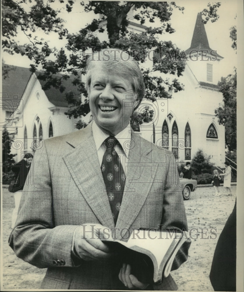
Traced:
<path fill-rule="evenodd" d="M 148 143 L 144 143 L 135 133 L 132 133 L 132 140 L 135 141 L 135 147 L 129 152 L 125 189 L 116 228 L 130 228 L 146 200 L 156 172 L 156 167 L 150 165 L 151 147 L 148 148 Z"/>

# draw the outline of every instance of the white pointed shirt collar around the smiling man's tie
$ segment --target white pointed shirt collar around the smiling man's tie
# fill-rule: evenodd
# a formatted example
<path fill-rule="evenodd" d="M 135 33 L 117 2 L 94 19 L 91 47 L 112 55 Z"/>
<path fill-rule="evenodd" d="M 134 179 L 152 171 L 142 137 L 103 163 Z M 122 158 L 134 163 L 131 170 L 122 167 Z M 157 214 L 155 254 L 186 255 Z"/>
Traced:
<path fill-rule="evenodd" d="M 104 133 L 99 127 L 98 125 L 95 123 L 95 121 L 93 121 L 92 123 L 92 133 L 93 133 L 93 138 L 95 140 L 95 145 L 96 145 L 96 150 L 98 151 L 98 149 L 101 147 L 103 141 L 109 137 L 109 135 L 107 133 Z M 121 132 L 119 132 L 117 135 L 115 135 L 115 138 L 119 141 L 121 147 L 123 148 L 126 157 L 129 157 L 129 149 L 126 148 L 126 144 L 125 141 L 129 141 L 131 140 L 131 127 L 130 127 L 130 123 L 128 124 L 128 126 L 126 128 L 124 128 Z"/>

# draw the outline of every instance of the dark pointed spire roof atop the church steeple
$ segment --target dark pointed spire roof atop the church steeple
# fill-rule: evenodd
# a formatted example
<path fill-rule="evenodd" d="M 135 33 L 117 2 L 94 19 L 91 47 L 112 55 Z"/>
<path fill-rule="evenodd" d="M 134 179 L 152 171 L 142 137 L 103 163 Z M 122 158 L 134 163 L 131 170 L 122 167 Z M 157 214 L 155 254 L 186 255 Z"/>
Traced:
<path fill-rule="evenodd" d="M 210 51 L 212 51 L 212 49 L 209 47 L 209 44 L 208 44 L 208 37 L 207 37 L 204 23 L 202 20 L 201 12 L 197 13 L 197 20 L 196 20 L 196 24 L 195 24 L 195 28 L 194 28 L 194 32 L 192 36 L 191 46 L 189 49 L 185 51 L 186 55 L 188 55 L 190 51 L 192 50 L 197 50 L 197 51 L 208 50 L 209 53 Z M 217 53 L 216 55 L 218 56 L 218 58 L 221 58 L 221 59 L 223 58 Z"/>

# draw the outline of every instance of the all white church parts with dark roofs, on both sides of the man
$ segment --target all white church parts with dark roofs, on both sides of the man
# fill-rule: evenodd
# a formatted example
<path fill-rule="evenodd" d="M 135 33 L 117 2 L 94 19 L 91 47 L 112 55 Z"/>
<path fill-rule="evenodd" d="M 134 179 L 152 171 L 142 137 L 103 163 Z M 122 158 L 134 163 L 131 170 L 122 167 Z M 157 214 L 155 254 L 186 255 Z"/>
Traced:
<path fill-rule="evenodd" d="M 199 50 L 211 52 L 201 20 L 199 13 L 191 46 L 185 51 L 187 56 L 192 54 L 194 60 Z M 130 22 L 130 29 L 139 33 L 144 27 Z M 210 53 L 206 56 L 213 58 Z M 184 91 L 172 93 L 171 99 L 158 99 L 153 103 L 143 101 L 155 114 L 152 122 L 140 125 L 138 133 L 158 147 L 173 151 L 178 161 L 191 161 L 197 150 L 202 149 L 216 166 L 224 166 L 224 126 L 218 124 L 214 113 L 223 99 L 217 86 L 222 57 L 217 54 L 215 59 L 203 61 L 199 57 L 198 61 L 186 61 L 183 76 L 179 77 Z M 17 154 L 16 161 L 26 152 L 38 148 L 40 140 L 77 131 L 78 120 L 69 119 L 65 114 L 70 108 L 65 92 L 75 89 L 71 79 L 65 81 L 63 93 L 55 88 L 43 90 L 43 84 L 36 73 L 16 66 L 11 67 L 8 77 L 3 79 L 3 114 L 9 133 L 15 134 L 11 151 Z M 90 114 L 86 116 L 86 122 L 89 119 Z"/>

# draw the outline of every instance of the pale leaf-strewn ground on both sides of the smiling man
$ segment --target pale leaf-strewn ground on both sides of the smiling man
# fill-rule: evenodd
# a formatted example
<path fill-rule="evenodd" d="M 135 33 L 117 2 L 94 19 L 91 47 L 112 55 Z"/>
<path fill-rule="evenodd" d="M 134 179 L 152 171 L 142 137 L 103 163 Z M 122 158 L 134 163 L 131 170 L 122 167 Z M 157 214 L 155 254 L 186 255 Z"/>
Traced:
<path fill-rule="evenodd" d="M 171 272 L 179 290 L 213 291 L 209 280 L 213 253 L 219 234 L 234 208 L 236 199 L 236 186 L 232 186 L 232 197 L 227 196 L 227 192 L 223 187 L 220 187 L 220 189 L 222 195 L 215 197 L 213 187 L 199 187 L 192 193 L 188 201 L 184 201 L 188 228 L 189 230 L 196 228 L 192 229 L 192 237 L 198 238 L 192 239 L 188 260 L 178 270 Z M 38 269 L 25 263 L 17 258 L 13 250 L 8 246 L 14 198 L 6 187 L 3 187 L 2 201 L 3 264 L 1 267 L 1 287 L 7 289 L 7 291 L 12 291 L 12 289 L 38 289 L 46 269 Z M 208 231 L 204 228 L 208 228 Z M 218 236 L 216 239 L 210 239 L 211 228 L 216 228 L 217 230 Z M 215 232 L 215 230 L 213 231 Z M 215 236 L 212 234 L 212 237 Z"/>

